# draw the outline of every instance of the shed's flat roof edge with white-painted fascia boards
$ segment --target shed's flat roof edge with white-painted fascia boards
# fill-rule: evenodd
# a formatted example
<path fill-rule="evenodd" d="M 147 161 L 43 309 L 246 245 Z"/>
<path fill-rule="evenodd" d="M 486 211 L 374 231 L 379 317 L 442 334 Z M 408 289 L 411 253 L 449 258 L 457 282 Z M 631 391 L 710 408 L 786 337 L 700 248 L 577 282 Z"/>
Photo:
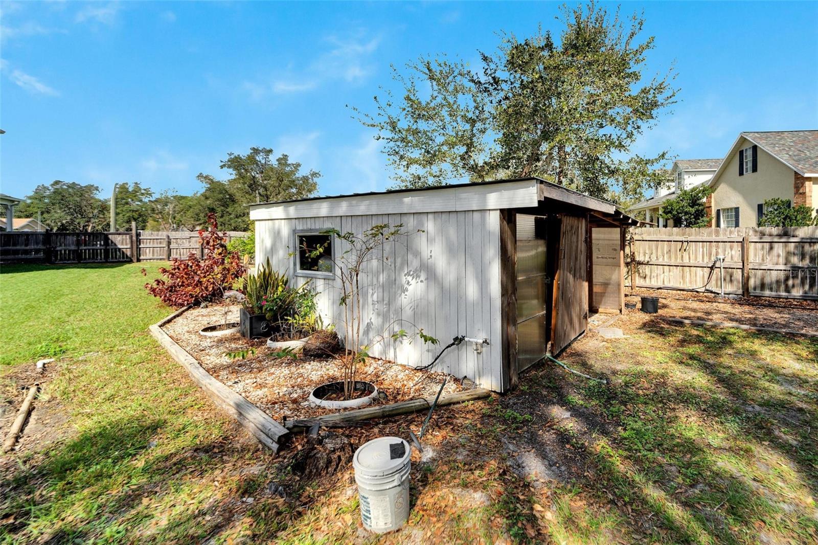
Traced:
<path fill-rule="evenodd" d="M 583 195 L 567 187 L 546 182 L 542 178 L 512 178 L 438 187 L 308 197 L 258 203 L 249 205 L 249 208 L 250 219 L 259 220 L 530 208 L 536 207 L 541 200 L 565 202 L 604 214 L 616 212 L 616 206 L 607 200 Z"/>

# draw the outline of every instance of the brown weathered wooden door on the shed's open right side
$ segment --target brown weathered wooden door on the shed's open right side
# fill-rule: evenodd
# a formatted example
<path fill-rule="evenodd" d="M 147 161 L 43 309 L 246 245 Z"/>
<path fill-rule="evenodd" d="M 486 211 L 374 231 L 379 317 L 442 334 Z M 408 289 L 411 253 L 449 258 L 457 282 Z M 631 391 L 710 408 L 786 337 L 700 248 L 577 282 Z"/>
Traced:
<path fill-rule="evenodd" d="M 554 290 L 553 354 L 559 354 L 588 325 L 586 218 L 563 216 L 560 228 L 560 268 Z"/>

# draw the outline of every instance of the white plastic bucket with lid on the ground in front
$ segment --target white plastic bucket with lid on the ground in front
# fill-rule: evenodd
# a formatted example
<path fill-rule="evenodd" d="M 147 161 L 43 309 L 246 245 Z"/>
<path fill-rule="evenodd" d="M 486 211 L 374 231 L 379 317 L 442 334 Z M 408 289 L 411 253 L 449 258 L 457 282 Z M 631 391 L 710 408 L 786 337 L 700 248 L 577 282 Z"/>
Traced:
<path fill-rule="evenodd" d="M 399 437 L 372 439 L 355 451 L 353 467 L 363 525 L 378 534 L 409 518 L 411 449 Z"/>

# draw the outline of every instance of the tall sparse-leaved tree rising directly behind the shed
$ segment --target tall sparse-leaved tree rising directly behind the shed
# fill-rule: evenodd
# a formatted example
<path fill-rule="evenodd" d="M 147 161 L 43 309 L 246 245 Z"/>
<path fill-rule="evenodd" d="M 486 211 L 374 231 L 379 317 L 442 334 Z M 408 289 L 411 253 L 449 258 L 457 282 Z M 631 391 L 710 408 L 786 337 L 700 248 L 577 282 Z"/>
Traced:
<path fill-rule="evenodd" d="M 375 97 L 358 119 L 377 131 L 400 187 L 453 179 L 539 176 L 592 196 L 641 196 L 661 182 L 667 151 L 632 152 L 636 139 L 675 102 L 672 69 L 649 78 L 644 19 L 620 19 L 593 2 L 563 7 L 559 43 L 542 29 L 504 34 L 480 70 L 421 57 L 393 67 L 402 96 Z M 628 155 L 629 159 L 623 159 Z"/>

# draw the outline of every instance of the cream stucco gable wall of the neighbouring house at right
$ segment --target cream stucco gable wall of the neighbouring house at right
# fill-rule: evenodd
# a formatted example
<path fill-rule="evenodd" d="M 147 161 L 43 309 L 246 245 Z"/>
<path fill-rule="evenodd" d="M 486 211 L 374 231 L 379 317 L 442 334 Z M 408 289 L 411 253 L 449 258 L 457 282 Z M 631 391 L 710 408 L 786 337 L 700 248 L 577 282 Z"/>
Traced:
<path fill-rule="evenodd" d="M 752 146 L 745 138 L 741 140 L 739 150 Z M 739 227 L 756 227 L 757 205 L 773 197 L 793 199 L 793 169 L 759 146 L 757 172 L 739 176 L 739 151 L 736 151 L 727 158 L 726 170 L 713 191 L 713 226 L 717 209 L 738 206 Z"/>

